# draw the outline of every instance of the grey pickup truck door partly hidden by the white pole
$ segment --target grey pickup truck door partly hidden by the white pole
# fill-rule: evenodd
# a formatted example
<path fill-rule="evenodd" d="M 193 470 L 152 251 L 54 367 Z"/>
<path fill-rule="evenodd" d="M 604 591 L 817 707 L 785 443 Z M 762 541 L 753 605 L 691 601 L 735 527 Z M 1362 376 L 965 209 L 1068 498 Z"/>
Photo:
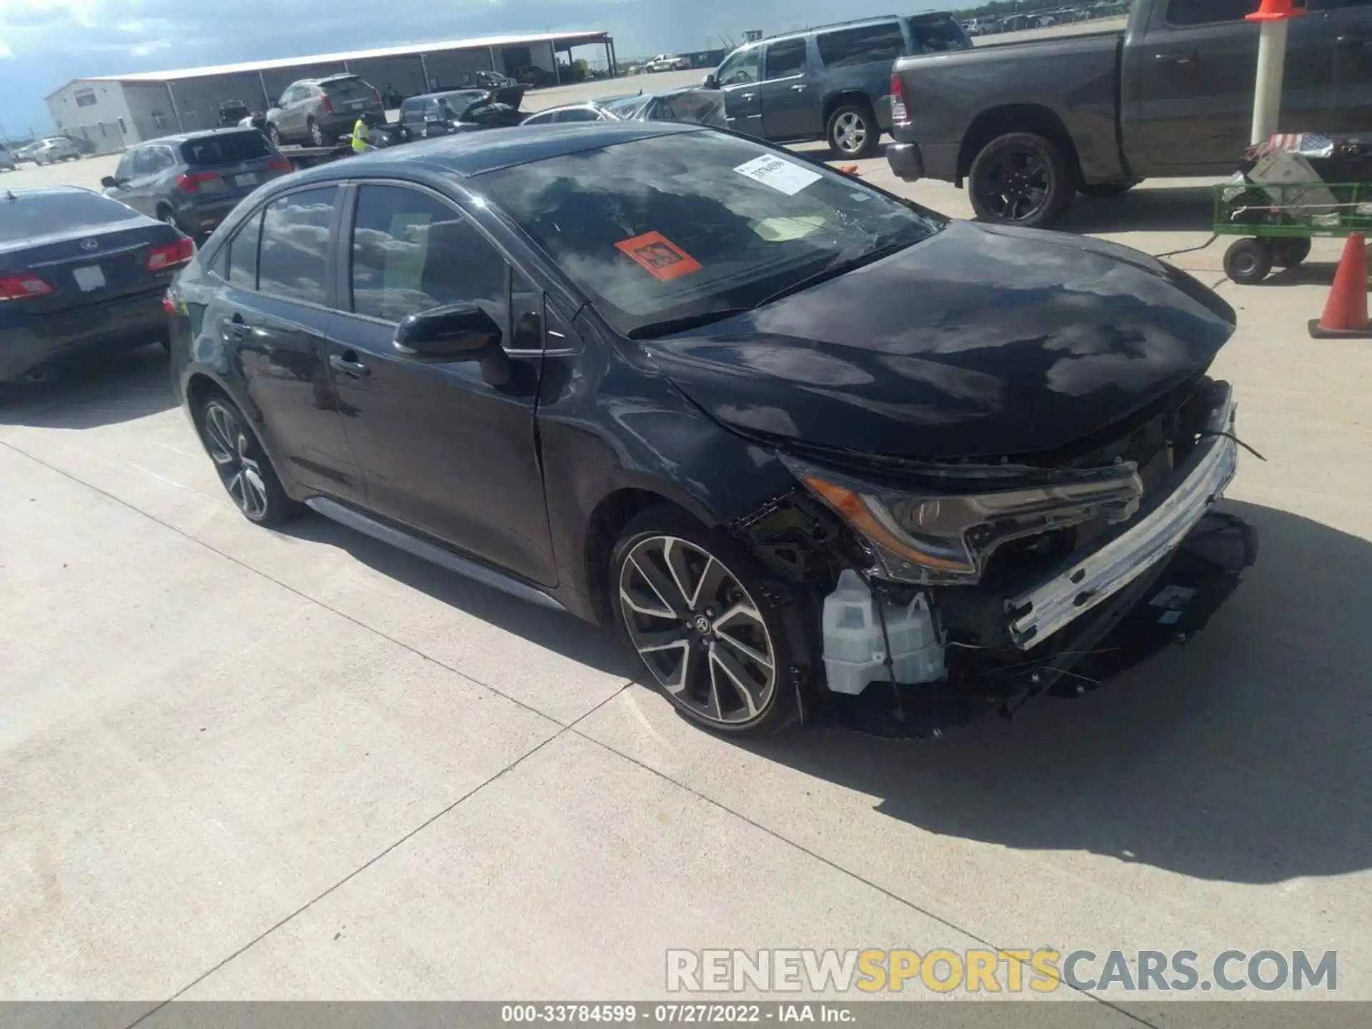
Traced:
<path fill-rule="evenodd" d="M 1159 0 L 1142 40 L 1125 48 L 1126 114 L 1137 140 L 1128 154 L 1140 173 L 1158 169 L 1232 172 L 1249 147 L 1258 25 L 1257 0 Z M 1281 132 L 1316 129 L 1328 55 L 1318 18 L 1287 29 Z M 1132 132 L 1131 132 L 1132 130 Z"/>

